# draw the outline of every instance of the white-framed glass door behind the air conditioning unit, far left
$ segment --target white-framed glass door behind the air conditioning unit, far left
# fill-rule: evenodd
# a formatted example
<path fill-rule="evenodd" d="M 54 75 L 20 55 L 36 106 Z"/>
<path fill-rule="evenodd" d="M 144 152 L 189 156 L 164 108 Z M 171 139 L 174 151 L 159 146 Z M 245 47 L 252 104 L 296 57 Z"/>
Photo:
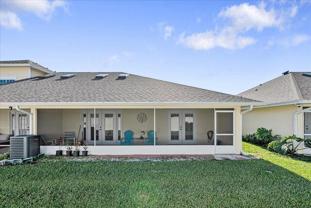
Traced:
<path fill-rule="evenodd" d="M 10 112 L 10 134 L 27 135 L 29 134 L 29 115 L 18 111 Z"/>

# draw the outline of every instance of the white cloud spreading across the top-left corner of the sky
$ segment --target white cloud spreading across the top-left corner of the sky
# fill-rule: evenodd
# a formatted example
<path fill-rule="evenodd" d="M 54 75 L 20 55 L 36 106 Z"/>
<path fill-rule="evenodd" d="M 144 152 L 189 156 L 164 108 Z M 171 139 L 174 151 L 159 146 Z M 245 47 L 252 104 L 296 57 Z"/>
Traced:
<path fill-rule="evenodd" d="M 35 14 L 40 19 L 49 21 L 57 8 L 68 11 L 69 3 L 65 0 L 6 0 L 0 2 L 1 26 L 21 30 L 22 23 L 17 14 L 22 12 Z M 4 20 L 2 20 L 4 18 Z M 7 23 L 10 22 L 8 25 Z"/>

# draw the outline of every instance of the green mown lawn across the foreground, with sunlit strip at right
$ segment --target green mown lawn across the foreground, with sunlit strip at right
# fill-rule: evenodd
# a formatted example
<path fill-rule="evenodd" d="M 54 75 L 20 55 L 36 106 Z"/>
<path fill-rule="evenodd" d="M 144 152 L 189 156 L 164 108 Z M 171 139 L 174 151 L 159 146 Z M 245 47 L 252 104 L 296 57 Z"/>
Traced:
<path fill-rule="evenodd" d="M 0 167 L 0 207 L 311 207 L 311 159 L 57 162 Z"/>

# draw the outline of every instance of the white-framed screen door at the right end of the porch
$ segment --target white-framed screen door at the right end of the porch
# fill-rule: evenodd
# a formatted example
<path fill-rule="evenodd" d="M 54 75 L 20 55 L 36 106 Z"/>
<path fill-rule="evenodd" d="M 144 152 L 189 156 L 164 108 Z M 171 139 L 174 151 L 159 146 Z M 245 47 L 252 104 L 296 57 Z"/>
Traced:
<path fill-rule="evenodd" d="M 235 151 L 235 113 L 215 110 L 215 153 L 233 154 Z"/>

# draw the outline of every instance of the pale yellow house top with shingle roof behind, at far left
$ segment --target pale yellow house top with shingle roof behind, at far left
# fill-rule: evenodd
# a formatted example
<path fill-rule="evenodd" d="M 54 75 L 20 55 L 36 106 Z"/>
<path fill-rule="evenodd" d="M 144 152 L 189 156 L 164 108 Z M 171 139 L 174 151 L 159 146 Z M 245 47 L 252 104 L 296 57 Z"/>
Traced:
<path fill-rule="evenodd" d="M 31 60 L 0 61 L 0 84 L 53 73 Z"/>

